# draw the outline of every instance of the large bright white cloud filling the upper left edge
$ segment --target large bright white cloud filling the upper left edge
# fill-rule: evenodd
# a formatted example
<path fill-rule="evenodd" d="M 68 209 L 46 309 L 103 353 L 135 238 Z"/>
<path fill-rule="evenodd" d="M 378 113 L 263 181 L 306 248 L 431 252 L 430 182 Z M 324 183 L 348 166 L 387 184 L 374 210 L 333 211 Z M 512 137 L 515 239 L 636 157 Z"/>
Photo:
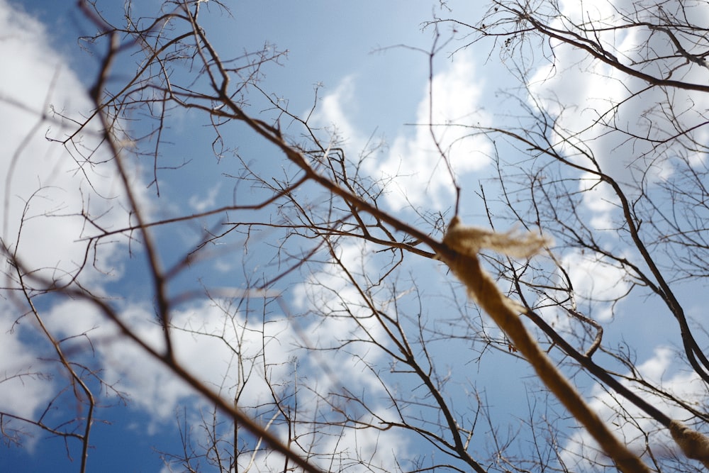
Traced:
<path fill-rule="evenodd" d="M 121 187 L 99 148 L 97 125 L 78 130 L 77 123 L 54 113 L 80 121 L 92 104 L 76 74 L 52 50 L 43 25 L 2 1 L 0 29 L 0 61 L 11 71 L 0 87 L 1 236 L 28 269 L 66 279 L 84 261 L 87 243 L 79 240 L 96 233 L 82 212 L 103 215 L 104 228 L 127 223 L 117 198 Z M 47 139 L 67 140 L 74 133 L 66 146 Z"/>

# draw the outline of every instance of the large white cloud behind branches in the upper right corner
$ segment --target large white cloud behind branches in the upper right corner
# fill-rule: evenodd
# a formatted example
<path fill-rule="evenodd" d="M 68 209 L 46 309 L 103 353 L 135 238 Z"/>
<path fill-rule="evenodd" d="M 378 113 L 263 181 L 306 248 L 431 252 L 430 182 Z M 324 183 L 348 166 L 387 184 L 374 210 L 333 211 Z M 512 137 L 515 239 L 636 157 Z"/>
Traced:
<path fill-rule="evenodd" d="M 681 6 L 677 4 L 676 7 Z M 671 5 L 664 8 L 666 13 L 672 13 Z M 635 4 L 627 1 L 603 1 L 588 5 L 563 1 L 560 10 L 562 15 L 577 21 L 577 25 L 580 21 L 598 21 L 600 25 L 615 24 L 620 18 L 618 11 L 626 12 L 630 18 L 637 16 L 639 21 L 655 21 L 656 18 L 653 20 L 649 17 L 658 14 L 653 9 L 638 11 Z M 709 21 L 709 9 L 705 6 L 692 8 L 691 12 L 692 21 L 696 24 Z M 562 16 L 558 16 L 552 26 L 574 28 L 566 24 Z M 662 57 L 666 53 L 667 57 L 671 57 L 676 52 L 674 45 L 658 32 L 642 28 L 608 28 L 593 34 L 593 40 L 598 39 L 607 45 L 608 50 L 613 51 L 621 62 L 635 68 L 643 67 L 643 72 L 656 77 L 667 74 L 671 67 L 684 62 L 658 61 L 651 64 L 644 60 L 644 54 Z M 674 137 L 679 128 L 673 120 L 686 129 L 704 123 L 702 114 L 709 108 L 707 94 L 680 89 L 668 93 L 659 87 L 640 94 L 638 92 L 647 87 L 647 82 L 642 79 L 630 77 L 610 65 L 593 60 L 585 51 L 562 45 L 555 40 L 551 43 L 554 45 L 554 62 L 540 67 L 533 74 L 530 79 L 530 95 L 535 97 L 537 104 L 551 113 L 558 129 L 564 130 L 563 134 L 552 135 L 552 140 L 562 143 L 559 149 L 568 152 L 571 159 L 593 168 L 588 158 L 577 155 L 574 145 L 579 145 L 579 148 L 591 153 L 603 172 L 621 184 L 644 179 L 650 187 L 654 182 L 662 182 L 673 174 L 674 167 L 668 158 L 686 154 L 690 163 L 703 160 L 700 157 L 703 153 L 697 155 L 694 150 L 698 146 L 691 140 L 704 143 L 702 139 L 705 132 Z M 646 43 L 647 46 L 642 47 Z M 705 68 L 693 66 L 691 69 L 678 69 L 673 78 L 703 84 L 705 74 Z M 646 135 L 658 141 L 634 138 Z M 661 140 L 671 137 L 668 143 L 661 143 Z M 564 139 L 569 139 L 569 142 L 563 144 Z M 685 143 L 687 148 L 678 146 L 679 143 Z M 674 146 L 669 152 L 666 148 L 668 145 Z M 580 183 L 581 190 L 593 187 L 593 191 L 584 193 L 584 203 L 596 213 L 596 220 L 591 223 L 606 228 L 611 213 L 617 208 L 613 190 L 606 184 L 599 184 L 598 179 L 590 179 L 590 175 L 581 178 L 585 179 Z M 634 189 L 625 188 L 631 193 Z M 647 185 L 644 189 L 648 190 Z"/>

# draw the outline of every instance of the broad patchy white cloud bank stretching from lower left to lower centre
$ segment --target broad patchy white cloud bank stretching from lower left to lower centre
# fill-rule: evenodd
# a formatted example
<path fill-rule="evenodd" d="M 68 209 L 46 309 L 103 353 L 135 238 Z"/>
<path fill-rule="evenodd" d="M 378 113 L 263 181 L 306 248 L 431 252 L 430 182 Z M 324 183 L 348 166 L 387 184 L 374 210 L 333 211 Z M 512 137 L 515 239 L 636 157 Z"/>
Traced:
<path fill-rule="evenodd" d="M 343 245 L 338 255 L 354 274 L 361 274 L 357 268 L 367 265 L 371 253 L 357 244 Z M 370 407 L 379 416 L 387 418 L 391 415 L 376 401 L 377 396 L 383 394 L 376 374 L 358 361 L 365 357 L 368 362 L 378 359 L 379 355 L 370 345 L 347 344 L 337 350 L 322 352 L 306 348 L 328 348 L 347 340 L 366 339 L 364 329 L 375 338 L 385 338 L 381 327 L 361 304 L 357 291 L 346 283 L 337 267 L 325 265 L 323 270 L 313 273 L 308 281 L 300 284 L 296 293 L 301 294 L 299 311 L 332 311 L 333 316 L 301 319 L 272 314 L 264 323 L 262 316 L 252 313 L 247 317 L 228 301 L 201 301 L 174 311 L 172 324 L 177 330 L 173 331 L 172 341 L 177 360 L 225 399 L 233 399 L 236 390 L 240 389 L 239 405 L 242 408 L 256 409 L 259 406 L 257 410 L 263 412 L 272 405 L 272 392 L 277 396 L 288 394 L 297 384 L 298 419 L 341 421 L 341 414 L 332 411 L 327 403 L 340 404 L 335 393 L 342 392 L 342 387 L 347 386 L 351 391 L 365 389 L 367 399 L 372 403 Z M 350 316 L 337 317 L 345 304 L 355 311 L 354 315 L 362 316 L 359 323 Z M 164 346 L 164 333 L 155 321 L 152 307 L 126 306 L 120 316 L 158 351 Z M 71 347 L 74 353 L 95 350 L 94 362 L 101 368 L 103 379 L 128 394 L 132 408 L 149 416 L 146 423 L 150 431 L 174 422 L 179 406 L 189 406 L 192 414 L 188 421 L 192 423 L 199 422 L 199 418 L 194 417 L 196 409 L 210 409 L 161 362 L 150 359 L 138 345 L 125 340 L 89 302 L 67 300 L 56 304 L 45 316 L 45 321 L 60 338 L 88 334 L 91 347 L 87 338 L 75 338 L 72 340 L 76 342 L 67 343 L 67 348 Z M 355 416 L 365 421 L 367 413 Z M 376 425 L 376 421 L 372 422 Z M 286 439 L 288 433 L 282 425 L 275 423 L 271 429 Z M 313 432 L 299 434 L 301 445 L 305 445 L 311 435 L 310 440 L 318 451 L 323 455 L 340 452 L 343 461 L 354 455 L 390 469 L 396 466 L 392 463 L 392 452 L 405 455 L 406 451 L 406 443 L 396 431 L 343 431 L 341 426 L 333 424 L 320 425 Z M 335 438 L 338 440 L 332 443 Z M 268 469 L 272 462 L 282 464 L 278 459 L 279 455 L 272 452 L 259 454 L 255 457 L 255 464 Z"/>

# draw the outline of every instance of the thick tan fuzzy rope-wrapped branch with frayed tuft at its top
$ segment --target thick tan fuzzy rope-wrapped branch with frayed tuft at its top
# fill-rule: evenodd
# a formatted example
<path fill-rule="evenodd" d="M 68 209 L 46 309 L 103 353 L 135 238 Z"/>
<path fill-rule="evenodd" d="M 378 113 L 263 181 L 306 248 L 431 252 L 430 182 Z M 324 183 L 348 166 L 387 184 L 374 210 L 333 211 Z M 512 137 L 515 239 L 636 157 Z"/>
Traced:
<path fill-rule="evenodd" d="M 546 240 L 532 233 L 515 237 L 513 233 L 498 234 L 466 227 L 456 216 L 448 227 L 443 243 L 452 252 L 441 254 L 441 260 L 465 284 L 471 299 L 476 301 L 506 333 L 519 352 L 530 362 L 549 391 L 552 391 L 554 396 L 564 404 L 576 421 L 584 425 L 606 455 L 622 472 L 649 472 L 647 465 L 620 443 L 601 418 L 591 411 L 579 392 L 537 345 L 520 320 L 521 306 L 502 294 L 477 258 L 477 252 L 484 247 L 510 256 L 531 256 L 545 245 Z"/>

